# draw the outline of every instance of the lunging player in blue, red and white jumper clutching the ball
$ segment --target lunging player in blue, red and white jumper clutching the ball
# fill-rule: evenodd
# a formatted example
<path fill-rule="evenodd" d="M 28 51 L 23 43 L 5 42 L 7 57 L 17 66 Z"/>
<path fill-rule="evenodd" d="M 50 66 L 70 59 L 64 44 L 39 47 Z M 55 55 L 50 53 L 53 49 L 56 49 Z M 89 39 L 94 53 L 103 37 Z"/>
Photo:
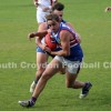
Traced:
<path fill-rule="evenodd" d="M 51 30 L 52 38 L 56 39 L 60 49 L 58 51 L 51 51 L 49 48 L 46 48 L 48 53 L 56 57 L 41 74 L 31 99 L 27 101 L 19 101 L 20 105 L 22 107 L 33 107 L 40 93 L 43 91 L 48 80 L 59 72 L 64 65 L 67 88 L 75 89 L 75 79 L 79 74 L 83 58 L 81 46 L 77 39 L 78 37 L 70 27 L 63 22 L 60 22 L 57 14 L 47 16 L 47 24 Z M 85 83 L 79 81 L 77 89 L 82 88 L 80 98 L 87 97 L 91 87 L 92 84 L 90 82 Z"/>

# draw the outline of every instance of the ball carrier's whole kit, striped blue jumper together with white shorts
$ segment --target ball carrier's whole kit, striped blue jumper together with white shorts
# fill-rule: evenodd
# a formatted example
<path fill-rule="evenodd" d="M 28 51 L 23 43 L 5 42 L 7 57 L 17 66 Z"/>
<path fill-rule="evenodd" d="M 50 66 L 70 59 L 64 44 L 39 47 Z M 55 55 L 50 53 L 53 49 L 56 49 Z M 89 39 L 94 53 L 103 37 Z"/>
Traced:
<path fill-rule="evenodd" d="M 77 74 L 83 58 L 81 46 L 77 40 L 78 36 L 70 27 L 61 22 L 59 31 L 57 33 L 52 32 L 52 38 L 54 38 L 57 43 L 59 44 L 59 50 L 62 49 L 61 41 L 60 41 L 61 30 L 67 30 L 73 36 L 73 39 L 70 41 L 70 56 L 67 57 L 56 56 L 54 59 L 59 60 L 63 65 L 65 65 L 67 67 L 65 70 L 69 73 Z"/>

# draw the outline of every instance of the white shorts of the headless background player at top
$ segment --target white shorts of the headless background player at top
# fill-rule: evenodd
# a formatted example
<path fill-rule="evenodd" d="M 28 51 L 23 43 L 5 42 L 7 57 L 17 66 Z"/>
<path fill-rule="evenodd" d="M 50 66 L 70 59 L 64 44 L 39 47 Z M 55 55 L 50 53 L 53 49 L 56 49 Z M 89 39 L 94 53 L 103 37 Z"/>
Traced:
<path fill-rule="evenodd" d="M 46 19 L 47 14 L 49 14 L 49 12 L 42 12 L 42 11 L 37 10 L 37 21 L 38 21 L 38 23 L 46 22 L 47 21 L 47 19 Z"/>

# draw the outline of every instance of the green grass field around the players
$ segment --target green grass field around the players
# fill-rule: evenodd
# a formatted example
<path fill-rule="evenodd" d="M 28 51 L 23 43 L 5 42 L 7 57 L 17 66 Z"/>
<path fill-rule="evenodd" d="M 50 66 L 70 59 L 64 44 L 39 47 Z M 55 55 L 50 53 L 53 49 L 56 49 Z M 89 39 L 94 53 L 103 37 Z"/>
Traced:
<path fill-rule="evenodd" d="M 36 31 L 32 0 L 0 0 L 0 111 L 111 111 L 111 0 L 59 0 L 65 4 L 64 19 L 82 36 L 84 62 L 79 80 L 91 81 L 89 95 L 67 89 L 64 75 L 54 75 L 32 109 L 18 104 L 31 97 L 34 79 L 36 44 L 27 34 Z M 30 65 L 33 64 L 33 65 Z M 7 65 L 7 67 L 6 67 Z"/>

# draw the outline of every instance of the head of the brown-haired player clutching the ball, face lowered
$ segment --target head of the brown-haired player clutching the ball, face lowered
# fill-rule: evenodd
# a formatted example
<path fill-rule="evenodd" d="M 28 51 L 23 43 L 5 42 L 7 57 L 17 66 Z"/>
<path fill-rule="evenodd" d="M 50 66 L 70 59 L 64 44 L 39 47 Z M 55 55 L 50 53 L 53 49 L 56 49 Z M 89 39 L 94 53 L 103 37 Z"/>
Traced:
<path fill-rule="evenodd" d="M 60 18 L 53 13 L 48 14 L 46 18 L 49 29 L 53 32 L 57 32 L 60 27 Z"/>

